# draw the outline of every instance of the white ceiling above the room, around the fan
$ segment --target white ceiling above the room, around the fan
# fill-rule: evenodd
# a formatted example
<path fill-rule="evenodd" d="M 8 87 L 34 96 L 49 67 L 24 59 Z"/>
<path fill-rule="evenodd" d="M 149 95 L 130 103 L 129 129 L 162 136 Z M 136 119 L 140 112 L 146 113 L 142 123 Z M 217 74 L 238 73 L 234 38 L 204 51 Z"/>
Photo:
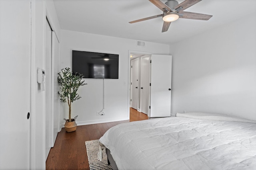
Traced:
<path fill-rule="evenodd" d="M 256 0 L 202 0 L 185 11 L 212 15 L 210 20 L 180 18 L 162 33 L 162 18 L 128 23 L 162 14 L 148 0 L 54 0 L 54 5 L 61 29 L 164 44 L 242 20 L 243 16 L 256 12 Z"/>

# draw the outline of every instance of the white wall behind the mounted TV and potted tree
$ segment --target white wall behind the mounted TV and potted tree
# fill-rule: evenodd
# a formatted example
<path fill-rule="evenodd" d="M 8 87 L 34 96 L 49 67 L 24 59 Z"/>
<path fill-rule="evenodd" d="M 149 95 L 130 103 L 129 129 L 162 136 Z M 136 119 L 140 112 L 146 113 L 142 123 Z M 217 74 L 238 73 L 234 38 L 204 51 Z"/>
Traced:
<path fill-rule="evenodd" d="M 82 98 L 72 103 L 72 117 L 78 115 L 78 125 L 118 121 L 129 119 L 128 102 L 128 67 L 129 50 L 144 51 L 154 54 L 169 54 L 169 45 L 146 42 L 146 47 L 137 47 L 136 40 L 81 33 L 76 31 L 61 31 L 60 68 L 72 66 L 72 49 L 119 55 L 119 79 L 105 79 L 105 109 L 104 116 L 96 114 L 103 108 L 103 80 L 84 79 L 87 85 L 80 87 Z M 126 85 L 124 85 L 126 82 Z M 130 94 L 129 94 L 130 95 Z M 60 120 L 68 117 L 68 104 L 62 105 Z"/>

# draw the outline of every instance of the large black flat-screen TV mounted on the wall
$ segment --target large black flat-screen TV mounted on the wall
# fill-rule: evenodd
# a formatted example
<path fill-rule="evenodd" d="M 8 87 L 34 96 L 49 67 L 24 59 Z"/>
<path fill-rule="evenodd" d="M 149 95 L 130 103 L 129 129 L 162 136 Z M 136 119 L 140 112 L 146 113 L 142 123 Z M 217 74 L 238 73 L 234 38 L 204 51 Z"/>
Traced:
<path fill-rule="evenodd" d="M 83 74 L 83 78 L 118 79 L 119 55 L 72 51 L 72 72 Z"/>

